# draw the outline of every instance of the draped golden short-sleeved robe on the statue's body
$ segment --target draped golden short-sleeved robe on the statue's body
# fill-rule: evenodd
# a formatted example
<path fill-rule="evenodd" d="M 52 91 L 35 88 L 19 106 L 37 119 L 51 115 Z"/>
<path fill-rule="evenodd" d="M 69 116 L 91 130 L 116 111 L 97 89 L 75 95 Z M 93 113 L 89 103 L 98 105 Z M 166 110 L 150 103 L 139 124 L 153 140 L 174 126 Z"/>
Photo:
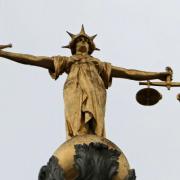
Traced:
<path fill-rule="evenodd" d="M 92 56 L 54 56 L 53 79 L 66 72 L 64 104 L 67 138 L 87 133 L 84 131 L 94 121 L 94 134 L 105 137 L 106 89 L 111 85 L 111 64 Z M 92 132 L 92 131 L 91 131 Z"/>

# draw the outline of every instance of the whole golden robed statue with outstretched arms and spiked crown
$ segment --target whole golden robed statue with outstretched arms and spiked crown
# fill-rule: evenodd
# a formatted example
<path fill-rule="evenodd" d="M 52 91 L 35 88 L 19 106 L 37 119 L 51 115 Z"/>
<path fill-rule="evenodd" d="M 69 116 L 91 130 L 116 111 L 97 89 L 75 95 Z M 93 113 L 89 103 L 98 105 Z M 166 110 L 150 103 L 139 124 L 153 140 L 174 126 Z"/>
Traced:
<path fill-rule="evenodd" d="M 53 79 L 64 72 L 68 74 L 64 85 L 67 138 L 83 134 L 105 137 L 106 89 L 111 85 L 112 78 L 165 81 L 170 75 L 168 72 L 116 67 L 91 56 L 94 50 L 99 50 L 93 42 L 96 35 L 88 36 L 83 26 L 79 34 L 68 34 L 72 40 L 64 48 L 71 49 L 70 57 L 32 56 L 0 50 L 0 57 L 48 69 Z M 0 49 L 6 47 L 0 46 Z"/>

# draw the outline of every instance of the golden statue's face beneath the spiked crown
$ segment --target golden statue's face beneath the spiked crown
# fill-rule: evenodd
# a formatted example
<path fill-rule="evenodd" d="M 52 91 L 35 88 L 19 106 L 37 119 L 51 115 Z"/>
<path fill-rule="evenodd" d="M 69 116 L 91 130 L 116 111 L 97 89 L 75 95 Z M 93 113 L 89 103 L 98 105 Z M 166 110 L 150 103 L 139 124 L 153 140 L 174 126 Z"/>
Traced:
<path fill-rule="evenodd" d="M 80 37 L 76 43 L 76 54 L 83 53 L 88 54 L 89 52 L 89 43 L 85 37 Z"/>

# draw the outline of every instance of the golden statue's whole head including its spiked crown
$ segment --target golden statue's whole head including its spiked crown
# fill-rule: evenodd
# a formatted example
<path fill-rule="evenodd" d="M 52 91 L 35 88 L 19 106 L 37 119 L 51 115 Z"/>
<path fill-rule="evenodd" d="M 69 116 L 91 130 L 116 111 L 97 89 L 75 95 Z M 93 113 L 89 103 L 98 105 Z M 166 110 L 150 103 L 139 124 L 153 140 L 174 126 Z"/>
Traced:
<path fill-rule="evenodd" d="M 78 52 L 87 53 L 90 55 L 90 54 L 92 54 L 92 52 L 94 50 L 99 50 L 98 48 L 96 48 L 96 46 L 93 42 L 96 35 L 88 36 L 85 33 L 83 25 L 82 25 L 82 28 L 81 28 L 81 31 L 79 34 L 74 35 L 68 31 L 67 31 L 67 33 L 70 35 L 71 41 L 69 42 L 69 44 L 67 46 L 63 46 L 63 48 L 71 49 L 71 53 L 73 55 L 77 54 Z"/>

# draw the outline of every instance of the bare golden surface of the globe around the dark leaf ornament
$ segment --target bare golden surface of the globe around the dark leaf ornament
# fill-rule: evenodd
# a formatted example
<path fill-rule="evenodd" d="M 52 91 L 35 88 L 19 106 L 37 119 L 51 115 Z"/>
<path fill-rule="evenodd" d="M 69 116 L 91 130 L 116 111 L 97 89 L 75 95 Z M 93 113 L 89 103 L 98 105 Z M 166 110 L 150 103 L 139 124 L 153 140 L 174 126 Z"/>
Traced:
<path fill-rule="evenodd" d="M 107 145 L 111 149 L 116 149 L 121 152 L 119 157 L 119 169 L 118 174 L 114 177 L 113 180 L 125 180 L 125 177 L 128 175 L 128 170 L 130 169 L 129 163 L 123 154 L 123 152 L 111 141 L 108 139 L 98 137 L 96 135 L 84 135 L 76 136 L 71 138 L 62 144 L 55 152 L 54 156 L 59 159 L 59 165 L 64 169 L 65 178 L 67 180 L 74 180 L 77 176 L 77 173 L 74 169 L 74 155 L 75 155 L 75 144 L 90 144 L 91 142 L 98 142 Z"/>

